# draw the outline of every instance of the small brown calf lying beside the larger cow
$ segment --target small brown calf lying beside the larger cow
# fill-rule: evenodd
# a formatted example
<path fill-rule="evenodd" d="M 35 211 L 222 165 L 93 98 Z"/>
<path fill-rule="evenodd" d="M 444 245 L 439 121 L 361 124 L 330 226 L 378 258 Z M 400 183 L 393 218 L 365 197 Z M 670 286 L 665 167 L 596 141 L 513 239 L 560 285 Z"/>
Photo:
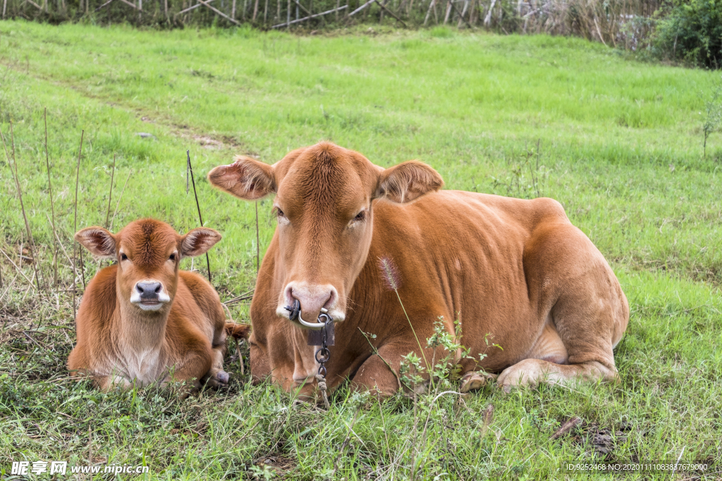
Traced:
<path fill-rule="evenodd" d="M 117 263 L 98 271 L 85 290 L 70 371 L 92 376 L 104 390 L 170 379 L 192 381 L 193 389 L 227 384 L 225 328 L 243 327 L 226 325 L 218 294 L 204 278 L 178 269 L 182 257 L 213 247 L 221 239 L 217 231 L 201 227 L 181 236 L 142 219 L 118 234 L 88 227 L 75 239 Z"/>

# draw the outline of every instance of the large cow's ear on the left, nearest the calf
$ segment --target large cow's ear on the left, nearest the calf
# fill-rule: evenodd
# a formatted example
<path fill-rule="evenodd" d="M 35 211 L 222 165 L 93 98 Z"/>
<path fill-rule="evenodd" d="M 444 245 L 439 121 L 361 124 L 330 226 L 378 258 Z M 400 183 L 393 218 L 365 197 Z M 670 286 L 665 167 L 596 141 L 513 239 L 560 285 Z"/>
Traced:
<path fill-rule="evenodd" d="M 244 200 L 256 200 L 276 192 L 274 170 L 251 157 L 237 156 L 230 165 L 219 165 L 208 180 L 220 190 Z"/>

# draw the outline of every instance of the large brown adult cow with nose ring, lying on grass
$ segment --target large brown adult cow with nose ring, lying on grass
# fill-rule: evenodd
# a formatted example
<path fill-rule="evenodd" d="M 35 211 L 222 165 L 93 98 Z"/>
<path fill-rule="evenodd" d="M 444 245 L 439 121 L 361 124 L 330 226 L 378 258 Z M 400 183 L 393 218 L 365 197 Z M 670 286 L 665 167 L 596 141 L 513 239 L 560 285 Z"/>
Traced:
<path fill-rule="evenodd" d="M 627 299 L 555 200 L 437 192 L 443 180 L 426 164 L 383 169 L 326 142 L 272 166 L 239 157 L 208 178 L 246 200 L 276 193 L 278 226 L 251 304 L 258 379 L 270 375 L 287 391 L 313 392 L 316 348 L 284 309 L 297 299 L 305 321 L 325 308 L 337 323 L 330 388 L 350 378 L 361 389 L 394 392 L 398 381 L 386 363 L 398 372 L 401 356 L 420 353 L 396 293 L 385 286 L 382 259 L 422 343 L 438 317 L 451 333 L 458 318 L 461 343 L 473 356 L 487 352 L 481 363 L 461 361 L 461 389 L 483 383 L 474 373 L 480 368 L 500 372 L 506 391 L 617 379 L 612 349 L 627 327 Z M 376 335 L 378 355 L 360 331 Z M 487 334 L 503 350 L 487 350 Z"/>

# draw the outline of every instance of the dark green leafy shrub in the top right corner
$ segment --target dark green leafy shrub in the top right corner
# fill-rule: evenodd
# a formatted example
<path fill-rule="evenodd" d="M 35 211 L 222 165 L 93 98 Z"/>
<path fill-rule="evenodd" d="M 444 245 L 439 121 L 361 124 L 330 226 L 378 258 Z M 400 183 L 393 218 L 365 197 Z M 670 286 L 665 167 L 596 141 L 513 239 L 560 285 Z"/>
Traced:
<path fill-rule="evenodd" d="M 657 23 L 659 56 L 708 69 L 722 68 L 722 0 L 671 0 Z"/>

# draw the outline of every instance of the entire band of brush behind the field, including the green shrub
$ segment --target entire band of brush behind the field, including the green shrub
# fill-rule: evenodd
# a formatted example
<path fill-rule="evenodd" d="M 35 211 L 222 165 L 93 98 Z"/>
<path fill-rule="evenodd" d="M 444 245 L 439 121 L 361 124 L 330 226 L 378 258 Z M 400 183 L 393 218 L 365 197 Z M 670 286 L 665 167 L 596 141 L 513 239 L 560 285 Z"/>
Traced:
<path fill-rule="evenodd" d="M 211 5 L 214 1 L 2 0 L 1 18 L 300 32 L 359 24 L 449 25 L 507 35 L 574 35 L 639 58 L 707 69 L 718 69 L 722 59 L 722 0 L 219 0 Z"/>

